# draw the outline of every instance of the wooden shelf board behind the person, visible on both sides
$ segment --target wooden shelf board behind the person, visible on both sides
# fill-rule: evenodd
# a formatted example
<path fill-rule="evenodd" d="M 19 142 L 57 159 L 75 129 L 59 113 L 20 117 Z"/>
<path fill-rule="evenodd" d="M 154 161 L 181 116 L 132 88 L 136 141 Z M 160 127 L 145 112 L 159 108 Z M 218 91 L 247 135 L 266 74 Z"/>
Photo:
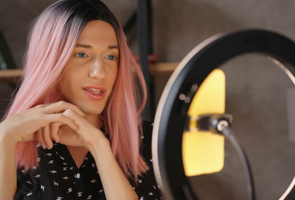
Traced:
<path fill-rule="evenodd" d="M 152 63 L 150 64 L 150 73 L 153 77 L 170 76 L 178 66 L 178 62 L 173 63 Z M 22 69 L 0 70 L 0 83 L 13 83 L 18 81 L 22 76 Z"/>

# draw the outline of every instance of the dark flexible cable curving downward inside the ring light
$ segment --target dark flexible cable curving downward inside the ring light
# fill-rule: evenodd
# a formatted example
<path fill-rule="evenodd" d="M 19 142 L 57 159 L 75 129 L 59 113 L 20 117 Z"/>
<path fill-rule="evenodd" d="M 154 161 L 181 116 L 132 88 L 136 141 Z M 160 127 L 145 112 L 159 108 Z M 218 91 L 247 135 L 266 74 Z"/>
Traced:
<path fill-rule="evenodd" d="M 225 127 L 224 125 L 222 125 L 222 130 L 220 132 L 224 135 L 225 138 L 227 138 L 232 143 L 235 150 L 239 154 L 240 159 L 241 159 L 242 164 L 243 164 L 243 167 L 244 167 L 244 169 L 246 171 L 245 175 L 246 175 L 246 180 L 248 182 L 248 184 L 247 184 L 247 192 L 248 192 L 249 199 L 255 200 L 256 195 L 255 195 L 255 186 L 254 186 L 253 174 L 252 174 L 252 170 L 251 170 L 249 160 L 248 160 L 248 158 L 247 158 L 247 156 L 245 154 L 245 151 L 243 150 L 242 146 L 239 144 L 239 142 L 235 138 L 234 132 L 232 131 L 232 129 L 230 127 Z"/>

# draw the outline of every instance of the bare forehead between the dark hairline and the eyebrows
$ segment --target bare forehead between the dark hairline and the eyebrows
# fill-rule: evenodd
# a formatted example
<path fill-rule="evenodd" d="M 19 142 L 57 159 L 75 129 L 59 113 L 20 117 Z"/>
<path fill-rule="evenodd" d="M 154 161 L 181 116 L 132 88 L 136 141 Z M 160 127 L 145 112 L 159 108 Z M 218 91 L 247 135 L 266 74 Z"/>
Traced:
<path fill-rule="evenodd" d="M 118 45 L 117 36 L 111 24 L 102 21 L 90 21 L 84 27 L 77 43 L 96 45 Z"/>

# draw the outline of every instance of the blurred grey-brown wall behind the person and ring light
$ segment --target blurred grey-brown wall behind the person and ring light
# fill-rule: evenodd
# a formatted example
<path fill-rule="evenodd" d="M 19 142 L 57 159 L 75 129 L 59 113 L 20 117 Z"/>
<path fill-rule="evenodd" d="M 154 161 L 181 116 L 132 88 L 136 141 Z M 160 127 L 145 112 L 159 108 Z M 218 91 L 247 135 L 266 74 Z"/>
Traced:
<path fill-rule="evenodd" d="M 54 0 L 1 1 L 0 31 L 19 68 L 27 44 L 27 27 Z M 136 0 L 103 0 L 122 26 L 137 10 Z M 228 31 L 259 28 L 275 31 L 295 41 L 293 0 L 153 0 L 151 26 L 156 63 L 150 64 L 153 112 L 173 69 L 196 45 Z M 128 31 L 132 53 L 140 54 L 137 25 Z M 224 51 L 226 51 L 226 46 Z M 9 59 L 9 56 L 5 56 Z M 212 58 L 214 59 L 214 58 Z M 0 55 L 1 61 L 1 55 Z M 238 56 L 219 66 L 226 75 L 226 113 L 233 114 L 233 129 L 253 169 L 258 199 L 278 199 L 295 174 L 295 143 L 288 129 L 287 92 L 294 84 L 266 57 Z M 1 71 L 0 71 L 1 72 Z M 1 76 L 0 76 L 1 79 Z M 4 79 L 3 79 L 4 80 Z M 0 83 L 0 116 L 9 104 L 12 86 Z M 289 99 L 292 102 L 292 99 Z M 289 119 L 289 123 L 294 119 Z M 240 160 L 225 141 L 225 164 L 214 174 L 190 177 L 200 199 L 246 199 L 246 183 Z"/>

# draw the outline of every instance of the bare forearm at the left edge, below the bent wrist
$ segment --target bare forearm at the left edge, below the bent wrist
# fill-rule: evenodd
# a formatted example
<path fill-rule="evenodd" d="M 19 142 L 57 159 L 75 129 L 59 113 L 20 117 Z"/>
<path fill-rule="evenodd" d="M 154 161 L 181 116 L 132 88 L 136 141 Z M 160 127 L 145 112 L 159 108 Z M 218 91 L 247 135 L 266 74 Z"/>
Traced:
<path fill-rule="evenodd" d="M 0 133 L 0 194 L 2 199 L 13 199 L 17 190 L 16 144 L 7 135 Z"/>

